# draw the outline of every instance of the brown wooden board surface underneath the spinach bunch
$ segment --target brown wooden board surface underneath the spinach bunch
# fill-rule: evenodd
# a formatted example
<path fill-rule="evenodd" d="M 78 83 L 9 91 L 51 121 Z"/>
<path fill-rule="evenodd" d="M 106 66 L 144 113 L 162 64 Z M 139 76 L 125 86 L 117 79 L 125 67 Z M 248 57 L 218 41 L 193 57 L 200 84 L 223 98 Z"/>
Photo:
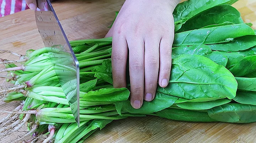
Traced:
<path fill-rule="evenodd" d="M 53 3 L 69 40 L 103 38 L 107 28 L 124 0 L 65 0 Z M 245 22 L 256 29 L 256 0 L 240 0 L 233 6 L 239 9 Z M 31 10 L 0 18 L 0 45 L 2 49 L 20 54 L 43 47 Z M 12 59 L 13 56 L 1 55 Z M 2 87 L 8 86 L 3 80 Z M 18 102 L 0 103 L 1 110 L 11 110 Z M 4 114 L 0 114 L 4 116 Z M 87 142 L 256 142 L 256 123 L 194 123 L 161 119 L 128 118 L 113 121 L 95 132 Z M 1 138 L 2 143 L 12 142 L 14 135 Z"/>

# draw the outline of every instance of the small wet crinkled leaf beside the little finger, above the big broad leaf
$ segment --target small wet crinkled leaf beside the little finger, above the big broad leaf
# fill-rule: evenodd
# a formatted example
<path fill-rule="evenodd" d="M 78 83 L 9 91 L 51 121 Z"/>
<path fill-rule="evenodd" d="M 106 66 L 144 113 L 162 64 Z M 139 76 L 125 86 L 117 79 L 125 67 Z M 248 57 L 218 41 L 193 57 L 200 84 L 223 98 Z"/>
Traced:
<path fill-rule="evenodd" d="M 198 44 L 193 46 L 180 46 L 172 48 L 172 58 L 177 58 L 179 55 L 188 54 L 188 55 L 207 55 L 212 50 L 209 46 Z"/>

